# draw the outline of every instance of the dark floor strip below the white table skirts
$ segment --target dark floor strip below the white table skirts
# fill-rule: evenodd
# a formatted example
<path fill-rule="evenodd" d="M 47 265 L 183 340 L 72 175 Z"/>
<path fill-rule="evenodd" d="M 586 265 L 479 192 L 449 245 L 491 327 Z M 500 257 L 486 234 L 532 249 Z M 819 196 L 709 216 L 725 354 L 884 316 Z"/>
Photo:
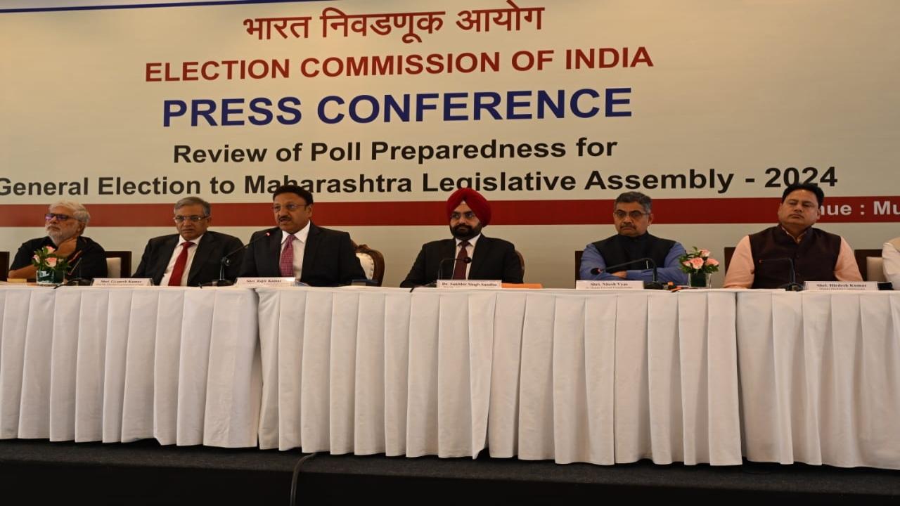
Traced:
<path fill-rule="evenodd" d="M 0 487 L 40 504 L 284 504 L 297 451 L 0 441 Z M 4 492 L 4 497 L 11 497 Z M 553 504 L 627 501 L 900 504 L 900 472 L 746 463 L 737 466 L 556 465 L 482 456 L 329 456 L 303 461 L 298 504 Z M 768 506 L 768 504 L 766 505 Z"/>

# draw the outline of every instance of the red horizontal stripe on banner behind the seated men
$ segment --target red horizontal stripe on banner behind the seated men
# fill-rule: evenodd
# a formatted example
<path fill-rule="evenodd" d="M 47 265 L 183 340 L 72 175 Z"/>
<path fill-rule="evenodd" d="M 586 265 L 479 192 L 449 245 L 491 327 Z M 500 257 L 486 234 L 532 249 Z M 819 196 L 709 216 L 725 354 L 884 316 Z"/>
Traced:
<path fill-rule="evenodd" d="M 85 203 L 92 227 L 168 227 L 171 203 Z M 656 224 L 769 223 L 776 221 L 779 198 L 654 199 Z M 612 223 L 612 200 L 503 200 L 491 202 L 495 225 L 594 225 Z M 900 221 L 900 196 L 829 197 L 822 221 L 873 223 Z M 0 227 L 43 225 L 47 206 L 0 204 Z M 220 227 L 275 225 L 267 203 L 213 203 Z M 445 225 L 443 202 L 316 203 L 313 219 L 332 226 Z"/>

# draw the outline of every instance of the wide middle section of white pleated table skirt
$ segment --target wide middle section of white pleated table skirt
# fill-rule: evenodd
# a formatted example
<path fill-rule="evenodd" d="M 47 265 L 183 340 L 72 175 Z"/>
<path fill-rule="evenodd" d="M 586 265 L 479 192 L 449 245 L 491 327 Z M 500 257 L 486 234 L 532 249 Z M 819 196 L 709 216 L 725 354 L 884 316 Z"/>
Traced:
<path fill-rule="evenodd" d="M 734 292 L 257 291 L 262 448 L 742 462 Z"/>

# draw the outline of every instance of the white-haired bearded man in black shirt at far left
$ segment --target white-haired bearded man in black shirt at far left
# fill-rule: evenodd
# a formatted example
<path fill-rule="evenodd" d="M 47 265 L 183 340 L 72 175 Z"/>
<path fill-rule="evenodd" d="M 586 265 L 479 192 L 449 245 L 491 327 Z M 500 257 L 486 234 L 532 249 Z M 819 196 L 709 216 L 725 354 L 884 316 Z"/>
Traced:
<path fill-rule="evenodd" d="M 80 203 L 59 201 L 50 204 L 49 212 L 44 214 L 47 236 L 23 243 L 7 276 L 33 279 L 37 269 L 31 265 L 31 257 L 36 250 L 50 246 L 56 249 L 58 258 L 68 259 L 67 278 L 106 277 L 106 252 L 94 240 L 81 235 L 90 219 L 91 214 Z"/>

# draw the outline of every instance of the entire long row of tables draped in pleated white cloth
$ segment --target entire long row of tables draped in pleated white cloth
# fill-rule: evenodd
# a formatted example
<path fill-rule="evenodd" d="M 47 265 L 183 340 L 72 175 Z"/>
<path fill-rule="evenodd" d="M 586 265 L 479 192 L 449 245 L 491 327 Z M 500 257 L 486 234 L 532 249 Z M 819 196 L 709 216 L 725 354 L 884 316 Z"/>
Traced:
<path fill-rule="evenodd" d="M 0 285 L 0 309 L 0 438 L 900 468 L 900 294 Z"/>

